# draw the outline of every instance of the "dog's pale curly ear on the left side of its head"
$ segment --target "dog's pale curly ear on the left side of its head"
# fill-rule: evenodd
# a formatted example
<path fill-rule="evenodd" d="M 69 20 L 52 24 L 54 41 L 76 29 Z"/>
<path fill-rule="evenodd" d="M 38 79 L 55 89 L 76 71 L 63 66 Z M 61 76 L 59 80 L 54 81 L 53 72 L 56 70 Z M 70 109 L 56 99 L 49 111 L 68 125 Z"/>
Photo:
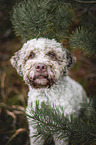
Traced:
<path fill-rule="evenodd" d="M 20 50 L 15 52 L 15 55 L 12 56 L 12 58 L 10 59 L 11 64 L 13 65 L 13 67 L 17 70 L 17 73 L 20 76 L 23 76 L 23 72 L 22 72 L 22 62 L 20 60 Z"/>

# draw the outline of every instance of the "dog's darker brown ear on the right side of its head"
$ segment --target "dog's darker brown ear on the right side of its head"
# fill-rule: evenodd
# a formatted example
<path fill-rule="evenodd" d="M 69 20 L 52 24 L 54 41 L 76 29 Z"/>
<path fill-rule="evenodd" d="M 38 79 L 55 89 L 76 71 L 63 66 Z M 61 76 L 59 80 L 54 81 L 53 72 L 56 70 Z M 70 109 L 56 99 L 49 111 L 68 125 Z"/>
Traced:
<path fill-rule="evenodd" d="M 66 59 L 67 59 L 67 70 L 69 70 L 76 62 L 76 57 L 73 56 L 73 54 L 71 54 L 71 52 L 66 50 Z"/>

